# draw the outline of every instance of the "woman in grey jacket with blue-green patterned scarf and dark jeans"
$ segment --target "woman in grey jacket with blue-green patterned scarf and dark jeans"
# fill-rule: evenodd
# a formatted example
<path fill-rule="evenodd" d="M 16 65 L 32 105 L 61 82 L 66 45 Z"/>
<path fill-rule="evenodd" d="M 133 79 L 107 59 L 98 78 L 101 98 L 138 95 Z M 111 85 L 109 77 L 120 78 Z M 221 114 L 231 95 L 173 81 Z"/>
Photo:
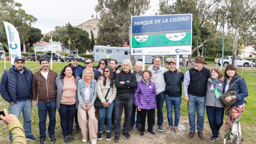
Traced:
<path fill-rule="evenodd" d="M 212 69 L 210 78 L 207 82 L 207 95 L 205 100 L 206 113 L 212 130 L 212 137 L 209 141 L 219 140 L 219 130 L 223 124 L 223 116 L 225 106 L 220 101 L 223 94 L 224 82 L 220 81 L 223 77 L 222 71 L 219 68 Z"/>

